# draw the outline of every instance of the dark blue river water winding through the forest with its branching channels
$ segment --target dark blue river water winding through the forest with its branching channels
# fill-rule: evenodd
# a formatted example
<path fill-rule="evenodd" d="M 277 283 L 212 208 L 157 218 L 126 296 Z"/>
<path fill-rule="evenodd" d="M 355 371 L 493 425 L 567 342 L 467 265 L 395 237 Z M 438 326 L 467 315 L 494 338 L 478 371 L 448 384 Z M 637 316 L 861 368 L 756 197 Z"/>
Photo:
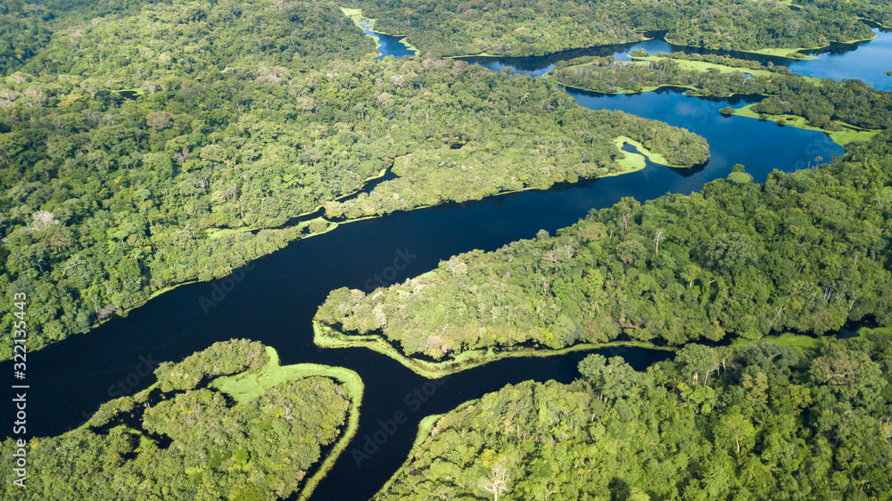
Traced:
<path fill-rule="evenodd" d="M 855 50 L 802 62 L 803 68 L 797 70 L 807 69 L 819 75 L 820 71 L 836 68 L 850 75 L 849 65 L 861 63 L 849 61 L 870 61 L 874 68 L 878 62 L 892 61 L 888 57 L 888 38 L 881 35 L 882 39 L 858 45 Z M 409 53 L 396 38 L 378 37 L 382 52 L 396 51 L 397 56 Z M 866 60 L 860 59 L 861 51 L 872 51 L 873 44 L 878 43 L 885 56 L 870 52 L 863 56 Z M 633 47 L 653 52 L 669 49 L 661 48 L 661 44 L 666 45 L 658 40 L 626 45 L 614 53 L 622 55 Z M 542 62 L 546 63 L 543 67 L 533 68 Z M 553 62 L 533 61 L 524 68 L 507 60 L 485 63 L 493 69 L 513 64 L 518 70 L 535 74 Z M 883 82 L 871 81 L 874 85 Z M 673 91 L 623 96 L 571 94 L 580 104 L 593 109 L 623 110 L 687 127 L 706 137 L 712 157 L 696 169 L 648 163 L 644 170 L 620 177 L 350 223 L 329 234 L 293 242 L 284 250 L 256 260 L 225 283 L 179 287 L 136 308 L 125 318 L 113 319 L 90 333 L 29 354 L 29 432 L 33 436 L 62 433 L 83 423 L 104 401 L 144 389 L 154 381 L 146 365 L 181 360 L 215 341 L 250 338 L 277 349 L 284 365 L 340 365 L 362 377 L 366 394 L 358 434 L 334 470 L 319 484 L 313 498 L 368 499 L 406 459 L 417 423 L 425 415 L 447 412 L 507 383 L 573 381 L 576 364 L 586 354 L 501 360 L 433 385 L 391 358 L 368 349 L 318 349 L 312 342 L 310 322 L 329 291 L 342 286 L 363 288 L 370 278 L 391 267 L 399 253 L 409 255 L 409 266 L 398 272 L 393 281 L 424 273 L 459 252 L 495 250 L 508 242 L 531 238 L 540 229 L 553 233 L 573 224 L 590 209 L 607 207 L 624 196 L 646 201 L 665 193 L 697 191 L 706 182 L 727 176 L 735 163 L 744 164 L 756 181 L 763 181 L 775 168 L 805 168 L 814 164 L 816 157 L 830 160 L 843 152 L 819 132 L 778 127 L 756 119 L 726 118 L 718 113 L 725 105 L 742 103 L 741 99 L 711 101 Z M 220 285 L 229 291 L 221 299 L 217 292 L 215 307 L 202 307 L 202 298 L 212 298 L 215 287 Z M 638 369 L 667 356 L 646 349 L 600 352 L 622 355 Z M 0 374 L 12 374 L 10 362 L 0 364 Z M 0 395 L 7 402 L 11 398 L 9 386 L 4 385 Z M 426 401 L 415 398 L 416 391 L 428 393 Z M 11 410 L 12 406 L 3 406 L 7 413 L 3 415 L 4 423 L 12 422 Z M 409 423 L 399 426 L 369 459 L 357 464 L 352 451 L 362 450 L 366 437 L 382 430 L 381 423 L 391 420 L 399 411 L 409 415 Z M 10 430 L 4 432 L 8 434 Z"/>

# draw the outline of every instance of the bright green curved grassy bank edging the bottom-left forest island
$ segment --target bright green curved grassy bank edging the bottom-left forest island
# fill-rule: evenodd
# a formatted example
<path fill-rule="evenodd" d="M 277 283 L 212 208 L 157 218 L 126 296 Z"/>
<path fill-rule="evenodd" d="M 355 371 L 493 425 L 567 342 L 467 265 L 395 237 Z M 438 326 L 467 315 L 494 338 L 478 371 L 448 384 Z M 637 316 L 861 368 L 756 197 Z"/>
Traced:
<path fill-rule="evenodd" d="M 269 357 L 267 365 L 260 369 L 256 374 L 236 374 L 235 376 L 221 377 L 213 382 L 210 386 L 217 390 L 223 391 L 233 398 L 238 404 L 251 401 L 260 397 L 264 390 L 276 386 L 277 384 L 292 382 L 310 376 L 322 376 L 335 380 L 343 384 L 347 390 L 347 395 L 351 400 L 349 414 L 347 415 L 347 423 L 343 430 L 343 435 L 337 439 L 335 445 L 328 449 L 325 459 L 316 468 L 316 472 L 310 476 L 303 484 L 301 494 L 298 499 L 309 499 L 313 490 L 316 489 L 319 481 L 325 478 L 326 474 L 335 465 L 338 456 L 341 456 L 344 448 L 350 444 L 356 431 L 359 429 L 359 407 L 362 403 L 362 395 L 365 390 L 362 379 L 359 374 L 344 367 L 334 367 L 330 365 L 318 364 L 297 364 L 297 365 L 279 365 L 279 357 L 276 349 L 266 347 Z"/>

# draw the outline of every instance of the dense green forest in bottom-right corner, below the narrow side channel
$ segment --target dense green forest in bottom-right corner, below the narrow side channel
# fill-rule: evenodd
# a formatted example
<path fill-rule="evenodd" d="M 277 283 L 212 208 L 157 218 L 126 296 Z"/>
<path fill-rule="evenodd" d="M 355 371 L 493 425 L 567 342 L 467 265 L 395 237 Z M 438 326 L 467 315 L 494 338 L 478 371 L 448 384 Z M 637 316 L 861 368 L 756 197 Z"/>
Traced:
<path fill-rule="evenodd" d="M 892 337 L 591 355 L 440 417 L 375 499 L 890 499 Z"/>

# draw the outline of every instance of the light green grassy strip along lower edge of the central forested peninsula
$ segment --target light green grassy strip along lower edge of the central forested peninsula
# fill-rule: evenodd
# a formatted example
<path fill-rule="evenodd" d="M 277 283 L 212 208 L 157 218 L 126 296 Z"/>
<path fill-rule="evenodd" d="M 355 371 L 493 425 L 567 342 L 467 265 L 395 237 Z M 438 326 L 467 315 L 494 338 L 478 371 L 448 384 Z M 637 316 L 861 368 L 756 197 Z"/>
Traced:
<path fill-rule="evenodd" d="M 415 374 L 427 379 L 440 379 L 467 369 L 489 364 L 496 360 L 510 357 L 556 357 L 575 351 L 611 348 L 641 348 L 673 351 L 673 348 L 657 346 L 646 341 L 614 341 L 604 343 L 581 343 L 563 349 L 535 349 L 528 347 L 504 349 L 471 349 L 462 351 L 455 357 L 442 362 L 431 362 L 407 357 L 400 349 L 376 334 L 344 334 L 327 325 L 313 321 L 313 342 L 320 348 L 368 348 L 387 357 L 391 357 Z"/>

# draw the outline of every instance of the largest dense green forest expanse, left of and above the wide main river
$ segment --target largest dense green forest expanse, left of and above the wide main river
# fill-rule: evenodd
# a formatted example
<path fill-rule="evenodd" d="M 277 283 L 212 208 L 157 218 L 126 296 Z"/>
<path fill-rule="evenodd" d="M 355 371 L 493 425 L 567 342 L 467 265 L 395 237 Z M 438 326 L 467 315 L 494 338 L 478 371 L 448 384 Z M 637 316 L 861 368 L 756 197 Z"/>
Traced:
<path fill-rule="evenodd" d="M 699 136 L 586 110 L 541 79 L 375 62 L 371 39 L 325 1 L 177 0 L 66 19 L 0 81 L 0 290 L 29 295 L 32 349 L 328 225 L 219 229 L 616 173 L 616 136 L 673 164 L 708 157 Z M 335 201 L 386 168 L 399 177 Z"/>

